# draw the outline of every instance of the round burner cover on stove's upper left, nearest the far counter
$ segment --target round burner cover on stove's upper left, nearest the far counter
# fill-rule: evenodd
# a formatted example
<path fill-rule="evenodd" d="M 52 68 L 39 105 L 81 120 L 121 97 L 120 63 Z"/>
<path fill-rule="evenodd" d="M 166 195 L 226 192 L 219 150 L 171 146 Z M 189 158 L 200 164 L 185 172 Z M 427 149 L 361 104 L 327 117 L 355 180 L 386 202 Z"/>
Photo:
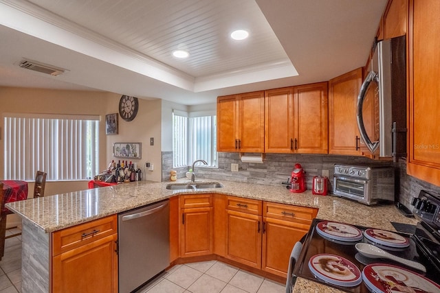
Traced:
<path fill-rule="evenodd" d="M 342 242 L 357 242 L 363 238 L 362 231 L 349 224 L 322 221 L 316 225 L 316 232 L 322 237 Z"/>

